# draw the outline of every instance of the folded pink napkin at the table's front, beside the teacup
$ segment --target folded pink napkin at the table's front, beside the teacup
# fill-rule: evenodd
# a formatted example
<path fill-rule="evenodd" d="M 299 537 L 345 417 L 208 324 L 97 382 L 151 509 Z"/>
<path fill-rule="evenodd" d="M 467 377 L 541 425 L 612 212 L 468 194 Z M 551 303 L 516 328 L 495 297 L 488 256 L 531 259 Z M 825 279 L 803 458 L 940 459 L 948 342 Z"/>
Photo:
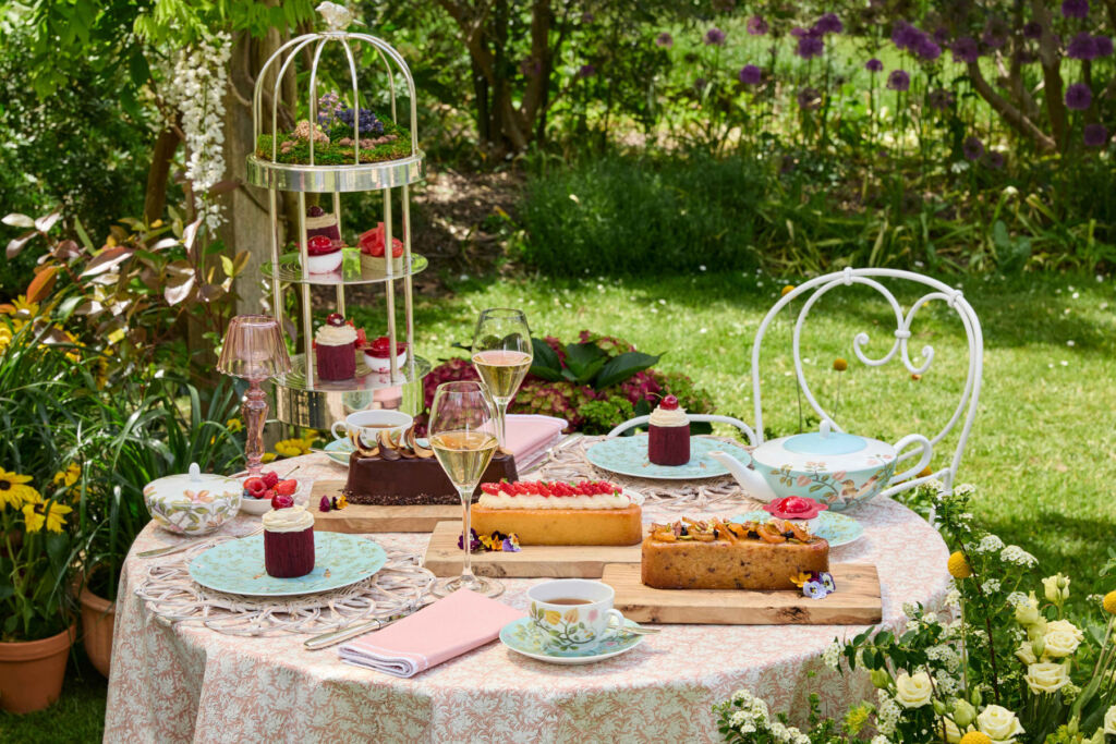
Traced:
<path fill-rule="evenodd" d="M 395 677 L 413 677 L 478 646 L 526 612 L 468 589 L 424 607 L 398 622 L 341 646 L 346 664 Z"/>

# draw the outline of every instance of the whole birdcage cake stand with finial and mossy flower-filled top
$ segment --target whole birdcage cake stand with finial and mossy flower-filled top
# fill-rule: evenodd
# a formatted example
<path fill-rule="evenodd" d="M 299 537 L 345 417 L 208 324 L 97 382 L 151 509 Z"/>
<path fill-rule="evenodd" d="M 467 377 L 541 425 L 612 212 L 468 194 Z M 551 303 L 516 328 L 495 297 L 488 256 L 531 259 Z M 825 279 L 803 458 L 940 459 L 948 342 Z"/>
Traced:
<path fill-rule="evenodd" d="M 425 173 L 423 152 L 419 149 L 414 79 L 406 62 L 391 45 L 367 33 L 347 31 L 353 19 L 344 9 L 334 7 L 323 16 L 327 30 L 291 39 L 260 70 L 252 100 L 253 152 L 248 156 L 248 182 L 268 191 L 271 261 L 262 267 L 262 273 L 270 280 L 273 311 L 280 327 L 291 328 L 283 322 L 283 288 L 295 288 L 300 293 L 301 318 L 294 325 L 291 340 L 301 351 L 291 357 L 292 370 L 275 380 L 276 414 L 288 424 L 317 429 L 329 428 L 349 413 L 366 408 L 398 408 L 412 415 L 420 413 L 422 378 L 430 371 L 430 363 L 414 354 L 412 277 L 427 265 L 425 257 L 411 250 L 410 185 L 421 181 Z M 348 80 L 341 77 L 337 83 L 350 83 L 350 87 L 344 87 L 345 93 L 337 94 L 331 100 L 329 96 L 333 94 L 319 100 L 319 81 L 324 71 L 319 65 L 324 54 L 341 55 L 339 69 L 347 71 Z M 311 60 L 308 70 L 299 69 L 299 61 L 307 58 Z M 383 65 L 389 91 L 389 122 L 377 119 L 374 112 L 369 115 L 371 109 L 362 108 L 364 99 L 360 97 L 357 60 L 365 58 Z M 279 126 L 280 94 L 285 81 L 289 85 L 291 80 L 306 80 L 307 86 L 299 90 L 296 102 L 295 131 L 282 133 Z M 408 102 L 410 131 L 400 125 L 397 93 L 405 93 Z M 352 98 L 345 102 L 349 94 Z M 348 108 L 344 108 L 345 103 Z M 346 112 L 352 124 L 345 117 Z M 305 119 L 300 118 L 301 114 L 306 115 Z M 311 126 L 310 123 L 317 124 Z M 327 126 L 331 127 L 329 133 L 326 132 Z M 383 228 L 378 238 L 385 248 L 384 259 L 376 264 L 362 255 L 357 267 L 353 260 L 356 257 L 349 253 L 336 270 L 311 272 L 309 239 L 314 235 L 309 234 L 309 223 L 316 221 L 317 226 L 323 218 L 308 216 L 308 203 L 312 207 L 312 202 L 317 200 L 321 205 L 330 205 L 331 213 L 321 210 L 330 223 L 326 232 L 336 234 L 340 244 L 356 245 L 356 242 L 344 240 L 343 231 L 350 225 L 344 219 L 341 197 L 360 192 L 378 192 L 382 195 Z M 297 212 L 292 230 L 295 245 L 289 249 L 281 224 L 287 200 L 297 204 L 296 209 L 289 210 Z M 402 242 L 403 254 L 401 259 L 392 260 L 396 241 Z M 389 350 L 387 369 L 371 369 L 363 350 L 358 348 L 353 378 L 323 379 L 314 352 L 311 287 L 334 287 L 336 312 L 347 317 L 346 288 L 359 284 L 379 284 L 384 291 L 384 335 Z M 396 312 L 401 289 L 402 334 Z M 406 357 L 402 364 L 396 355 L 401 335 L 406 344 Z"/>

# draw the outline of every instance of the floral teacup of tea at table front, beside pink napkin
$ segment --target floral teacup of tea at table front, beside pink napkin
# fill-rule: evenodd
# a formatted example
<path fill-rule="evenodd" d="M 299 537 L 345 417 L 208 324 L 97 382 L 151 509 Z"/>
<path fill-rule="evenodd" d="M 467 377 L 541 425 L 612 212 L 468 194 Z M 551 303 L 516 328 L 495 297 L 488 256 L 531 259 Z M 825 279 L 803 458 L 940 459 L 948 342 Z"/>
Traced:
<path fill-rule="evenodd" d="M 555 579 L 528 589 L 530 617 L 542 647 L 573 651 L 616 637 L 624 615 L 613 609 L 615 596 L 607 583 L 585 579 Z"/>

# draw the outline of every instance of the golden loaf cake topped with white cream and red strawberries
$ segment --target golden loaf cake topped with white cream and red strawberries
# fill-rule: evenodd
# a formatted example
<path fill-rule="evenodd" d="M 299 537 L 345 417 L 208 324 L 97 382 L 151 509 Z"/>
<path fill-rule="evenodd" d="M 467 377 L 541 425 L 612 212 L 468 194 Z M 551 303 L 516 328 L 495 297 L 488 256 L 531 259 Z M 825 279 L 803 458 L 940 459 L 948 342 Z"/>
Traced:
<path fill-rule="evenodd" d="M 634 545 L 643 510 L 605 481 L 482 483 L 472 509 L 479 534 L 514 533 L 521 545 Z"/>

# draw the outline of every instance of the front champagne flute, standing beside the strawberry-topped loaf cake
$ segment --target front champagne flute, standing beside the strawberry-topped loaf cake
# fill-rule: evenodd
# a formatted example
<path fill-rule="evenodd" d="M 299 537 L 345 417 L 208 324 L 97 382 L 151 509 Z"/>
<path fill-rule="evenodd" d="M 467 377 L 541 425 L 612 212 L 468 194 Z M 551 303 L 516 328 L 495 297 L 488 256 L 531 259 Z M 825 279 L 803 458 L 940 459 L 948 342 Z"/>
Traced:
<path fill-rule="evenodd" d="M 445 597 L 458 589 L 496 597 L 503 584 L 473 576 L 471 563 L 470 509 L 473 492 L 496 453 L 496 421 L 492 404 L 480 383 L 445 383 L 434 392 L 430 407 L 430 446 L 461 495 L 461 541 L 465 557 L 461 576 L 440 579 L 434 595 Z"/>

